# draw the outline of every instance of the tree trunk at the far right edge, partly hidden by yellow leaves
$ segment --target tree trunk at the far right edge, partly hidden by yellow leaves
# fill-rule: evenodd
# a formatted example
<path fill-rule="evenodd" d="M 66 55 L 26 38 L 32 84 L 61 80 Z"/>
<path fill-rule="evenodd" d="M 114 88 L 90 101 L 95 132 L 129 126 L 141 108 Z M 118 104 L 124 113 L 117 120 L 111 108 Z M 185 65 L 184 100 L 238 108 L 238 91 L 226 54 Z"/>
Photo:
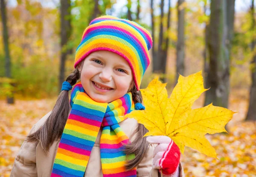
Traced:
<path fill-rule="evenodd" d="M 251 30 L 255 31 L 255 18 L 254 18 L 254 0 L 252 0 L 251 5 Z M 253 51 L 256 45 L 256 39 L 252 39 L 251 50 Z M 256 120 L 256 54 L 254 54 L 251 64 L 254 65 L 251 76 L 252 76 L 252 85 L 250 88 L 250 102 L 245 120 Z"/>

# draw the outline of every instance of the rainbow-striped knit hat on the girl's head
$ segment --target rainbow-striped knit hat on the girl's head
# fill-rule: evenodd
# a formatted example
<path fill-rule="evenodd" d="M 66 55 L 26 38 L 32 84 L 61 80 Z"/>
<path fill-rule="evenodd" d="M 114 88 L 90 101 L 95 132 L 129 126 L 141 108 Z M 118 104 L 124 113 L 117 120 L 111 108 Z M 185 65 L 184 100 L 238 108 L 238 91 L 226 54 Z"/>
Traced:
<path fill-rule="evenodd" d="M 152 46 L 150 33 L 139 24 L 105 15 L 95 18 L 84 30 L 76 49 L 76 66 L 90 53 L 108 50 L 125 58 L 130 64 L 137 90 L 150 63 L 148 50 Z"/>

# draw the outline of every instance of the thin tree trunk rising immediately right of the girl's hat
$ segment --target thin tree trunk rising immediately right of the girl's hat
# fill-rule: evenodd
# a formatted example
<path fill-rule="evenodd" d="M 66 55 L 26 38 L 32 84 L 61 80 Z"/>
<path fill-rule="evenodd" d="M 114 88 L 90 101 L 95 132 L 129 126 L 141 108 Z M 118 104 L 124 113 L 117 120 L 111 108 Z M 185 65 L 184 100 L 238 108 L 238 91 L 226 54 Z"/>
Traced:
<path fill-rule="evenodd" d="M 151 0 L 150 2 L 150 12 L 151 12 L 151 29 L 152 29 L 152 41 L 153 41 L 153 44 L 152 44 L 152 48 L 151 48 L 151 51 L 152 51 L 152 60 L 153 60 L 153 73 L 154 71 L 156 70 L 157 68 L 157 52 L 155 51 L 155 47 L 154 47 L 154 42 L 155 42 L 155 38 L 154 38 L 154 1 Z"/>

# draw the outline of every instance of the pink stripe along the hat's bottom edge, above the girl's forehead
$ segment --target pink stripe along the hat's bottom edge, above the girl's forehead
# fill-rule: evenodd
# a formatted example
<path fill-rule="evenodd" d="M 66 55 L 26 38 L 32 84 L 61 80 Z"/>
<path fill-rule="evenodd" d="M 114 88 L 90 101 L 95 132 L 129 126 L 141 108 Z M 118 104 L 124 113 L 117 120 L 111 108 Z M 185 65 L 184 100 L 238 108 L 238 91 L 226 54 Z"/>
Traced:
<path fill-rule="evenodd" d="M 125 55 L 123 55 L 122 53 L 120 53 L 119 51 L 113 50 L 113 49 L 109 49 L 109 48 L 107 48 L 107 47 L 98 47 L 98 48 L 91 49 L 91 50 L 89 50 L 88 52 L 86 52 L 84 55 L 82 55 L 81 58 L 79 58 L 79 60 L 76 61 L 74 67 L 76 68 L 76 65 L 79 64 L 85 57 L 87 57 L 87 55 L 90 55 L 90 53 L 95 52 L 95 51 L 98 51 L 98 50 L 108 50 L 108 51 L 114 52 L 114 53 L 116 53 L 116 54 L 118 54 L 118 55 L 121 55 L 121 56 L 122 56 L 123 58 L 125 58 L 125 60 L 130 64 L 130 66 L 133 66 L 133 65 L 131 64 L 131 61 L 130 61 Z M 134 76 L 135 85 L 136 85 L 136 87 L 137 87 L 137 90 L 139 90 L 140 88 L 138 87 L 138 84 L 137 84 L 137 78 L 136 78 L 136 76 L 135 76 L 134 68 L 131 67 L 131 70 L 132 70 L 132 73 L 133 73 L 133 76 Z"/>

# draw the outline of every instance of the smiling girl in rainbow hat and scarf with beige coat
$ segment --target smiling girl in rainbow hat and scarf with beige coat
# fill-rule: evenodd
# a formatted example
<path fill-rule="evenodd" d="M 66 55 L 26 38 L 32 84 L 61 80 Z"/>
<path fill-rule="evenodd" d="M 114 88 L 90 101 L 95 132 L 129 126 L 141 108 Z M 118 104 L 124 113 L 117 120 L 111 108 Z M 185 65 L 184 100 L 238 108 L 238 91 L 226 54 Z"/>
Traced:
<path fill-rule="evenodd" d="M 75 70 L 53 110 L 29 132 L 11 177 L 183 177 L 169 137 L 146 139 L 143 125 L 124 119 L 145 109 L 139 88 L 151 46 L 150 33 L 135 22 L 92 20 L 76 49 Z"/>

